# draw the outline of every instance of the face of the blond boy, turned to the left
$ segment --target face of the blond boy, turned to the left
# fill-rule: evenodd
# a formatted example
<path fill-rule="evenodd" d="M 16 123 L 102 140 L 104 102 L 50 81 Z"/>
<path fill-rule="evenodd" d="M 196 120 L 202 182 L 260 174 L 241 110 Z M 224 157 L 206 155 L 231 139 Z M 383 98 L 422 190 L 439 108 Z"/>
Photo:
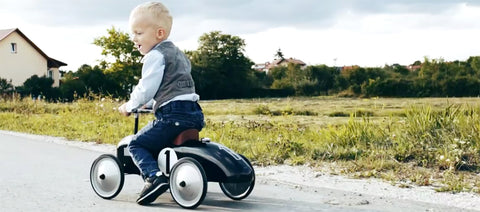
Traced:
<path fill-rule="evenodd" d="M 134 14 L 130 18 L 135 47 L 142 55 L 147 54 L 155 45 L 165 39 L 165 30 L 155 26 L 148 16 Z"/>

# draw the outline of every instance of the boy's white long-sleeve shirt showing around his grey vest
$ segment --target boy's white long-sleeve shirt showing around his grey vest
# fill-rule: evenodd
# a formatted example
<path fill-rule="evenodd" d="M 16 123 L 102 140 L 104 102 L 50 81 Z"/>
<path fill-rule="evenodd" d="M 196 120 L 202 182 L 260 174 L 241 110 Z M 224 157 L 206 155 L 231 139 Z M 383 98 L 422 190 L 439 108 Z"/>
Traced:
<path fill-rule="evenodd" d="M 155 47 L 153 47 L 152 50 Z M 160 88 L 165 71 L 165 57 L 160 51 L 152 50 L 150 50 L 142 59 L 142 78 L 138 81 L 138 84 L 130 94 L 130 100 L 128 100 L 126 104 L 127 112 L 131 112 L 133 109 L 139 108 L 147 103 L 148 105 L 153 105 L 155 102 L 153 98 Z M 183 100 L 196 102 L 199 99 L 200 97 L 196 93 L 184 94 L 166 101 L 160 105 L 160 107 L 171 101 Z"/>

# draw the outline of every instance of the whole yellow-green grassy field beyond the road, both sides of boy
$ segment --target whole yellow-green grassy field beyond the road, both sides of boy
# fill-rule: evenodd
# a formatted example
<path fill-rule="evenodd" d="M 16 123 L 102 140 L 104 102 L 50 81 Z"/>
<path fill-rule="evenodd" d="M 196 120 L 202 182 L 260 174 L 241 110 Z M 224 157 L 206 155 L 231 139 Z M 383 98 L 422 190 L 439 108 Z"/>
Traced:
<path fill-rule="evenodd" d="M 133 118 L 112 99 L 0 100 L 0 129 L 116 144 Z M 201 136 L 257 165 L 309 164 L 400 187 L 480 192 L 480 99 L 335 97 L 201 101 Z M 140 126 L 152 120 L 140 119 Z"/>

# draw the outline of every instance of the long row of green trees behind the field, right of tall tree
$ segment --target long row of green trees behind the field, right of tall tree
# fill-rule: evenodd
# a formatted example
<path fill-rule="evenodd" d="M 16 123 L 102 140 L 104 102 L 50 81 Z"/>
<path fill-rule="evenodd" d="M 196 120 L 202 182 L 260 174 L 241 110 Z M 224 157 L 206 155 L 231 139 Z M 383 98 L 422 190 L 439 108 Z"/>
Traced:
<path fill-rule="evenodd" d="M 419 70 L 408 70 L 399 64 L 383 68 L 328 66 L 306 68 L 275 67 L 269 73 L 272 88 L 295 90 L 295 95 L 347 95 L 383 97 L 435 97 L 480 95 L 480 57 L 467 61 L 445 62 L 425 58 Z"/>

